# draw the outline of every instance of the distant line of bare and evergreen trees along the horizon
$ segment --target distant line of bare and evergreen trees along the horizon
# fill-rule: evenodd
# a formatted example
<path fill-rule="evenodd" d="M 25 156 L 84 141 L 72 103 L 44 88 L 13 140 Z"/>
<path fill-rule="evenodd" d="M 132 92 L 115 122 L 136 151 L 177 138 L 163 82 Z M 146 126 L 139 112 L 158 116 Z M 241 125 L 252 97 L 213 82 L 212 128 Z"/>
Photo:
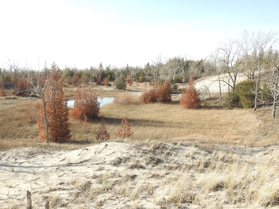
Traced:
<path fill-rule="evenodd" d="M 118 89 L 125 89 L 126 85 L 131 85 L 133 81 L 155 83 L 160 80 L 161 87 L 163 87 L 164 80 L 168 79 L 170 85 L 182 83 L 182 92 L 184 84 L 189 81 L 191 76 L 194 79 L 201 79 L 215 75 L 218 76 L 216 82 L 219 83 L 220 100 L 222 100 L 221 85 L 225 83 L 228 85 L 228 97 L 232 100 L 240 101 L 241 104 L 245 104 L 245 107 L 253 106 L 254 110 L 262 104 L 271 105 L 272 117 L 275 118 L 279 97 L 278 50 L 279 43 L 276 33 L 244 31 L 241 38 L 220 44 L 201 60 L 186 56 L 166 58 L 159 54 L 144 67 L 129 66 L 128 64 L 117 67 L 112 64 L 100 63 L 98 66 L 85 69 L 65 66 L 61 72 L 64 82 L 69 85 L 96 82 L 97 85 L 109 86 L 110 82 L 115 82 Z M 24 67 L 19 66 L 18 62 L 11 59 L 6 65 L 2 64 L 0 67 L 0 95 L 5 94 L 5 86 L 6 88 L 15 87 L 22 74 L 20 72 L 25 70 Z M 224 73 L 228 75 L 227 80 L 220 78 L 220 75 Z M 246 75 L 248 83 L 238 88 L 237 77 L 240 73 Z M 246 96 L 244 96 L 244 92 Z M 244 101 L 247 98 L 249 98 L 249 102 Z M 247 105 L 248 103 L 249 105 Z"/>

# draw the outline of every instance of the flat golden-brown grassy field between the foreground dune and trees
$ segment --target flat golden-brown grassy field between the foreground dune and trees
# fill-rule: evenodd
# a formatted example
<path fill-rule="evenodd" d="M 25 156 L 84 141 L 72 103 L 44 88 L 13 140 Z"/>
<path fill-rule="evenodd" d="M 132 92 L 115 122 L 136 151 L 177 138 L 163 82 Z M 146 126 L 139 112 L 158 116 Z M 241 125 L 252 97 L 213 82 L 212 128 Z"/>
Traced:
<path fill-rule="evenodd" d="M 142 90 L 150 88 L 144 83 L 128 86 L 132 101 L 125 105 L 115 103 L 100 108 L 107 122 L 111 141 L 116 141 L 116 133 L 121 119 L 126 115 L 131 123 L 133 136 L 129 142 L 140 143 L 146 139 L 163 142 L 198 141 L 201 143 L 229 143 L 251 146 L 266 146 L 278 142 L 277 124 L 271 120 L 266 108 L 257 111 L 251 109 L 224 109 L 215 106 L 200 109 L 183 109 L 179 105 L 178 95 L 167 104 L 144 104 L 139 101 Z M 65 86 L 65 97 L 74 98 L 76 87 Z M 113 87 L 97 86 L 98 96 L 120 97 L 124 91 Z M 24 115 L 35 107 L 38 98 L 13 97 L 0 98 L 0 140 L 1 148 L 35 145 L 42 143 L 38 137 L 36 124 L 29 124 Z M 100 119 L 91 121 L 86 129 L 78 120 L 70 118 L 71 143 L 99 143 L 95 140 Z"/>

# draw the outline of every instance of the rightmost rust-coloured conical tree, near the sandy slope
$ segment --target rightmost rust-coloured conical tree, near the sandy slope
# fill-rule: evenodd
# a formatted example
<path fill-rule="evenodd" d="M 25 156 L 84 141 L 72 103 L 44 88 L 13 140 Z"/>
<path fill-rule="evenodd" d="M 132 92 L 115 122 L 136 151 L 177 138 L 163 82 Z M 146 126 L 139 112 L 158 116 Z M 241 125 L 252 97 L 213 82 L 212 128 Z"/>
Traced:
<path fill-rule="evenodd" d="M 194 77 L 191 76 L 188 85 L 184 88 L 179 103 L 184 108 L 196 108 L 201 106 L 200 93 L 195 88 Z"/>

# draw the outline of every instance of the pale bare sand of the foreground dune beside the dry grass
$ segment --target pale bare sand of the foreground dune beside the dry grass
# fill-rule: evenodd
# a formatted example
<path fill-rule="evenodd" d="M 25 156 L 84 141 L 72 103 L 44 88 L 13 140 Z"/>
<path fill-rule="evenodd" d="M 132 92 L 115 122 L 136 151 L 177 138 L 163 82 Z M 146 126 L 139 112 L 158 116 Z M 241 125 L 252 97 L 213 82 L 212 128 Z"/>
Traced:
<path fill-rule="evenodd" d="M 163 148 L 161 147 L 161 152 L 157 155 L 158 160 L 152 157 L 155 156 L 156 149 L 123 142 L 104 142 L 72 151 L 46 147 L 1 151 L 0 208 L 25 208 L 26 190 L 32 194 L 33 208 L 43 208 L 48 199 L 53 204 L 52 208 L 178 208 L 167 203 L 162 207 L 154 202 L 153 195 L 146 193 L 139 193 L 136 198 L 131 198 L 131 191 L 131 194 L 127 192 L 125 195 L 125 192 L 117 193 L 117 189 L 109 192 L 110 189 L 106 188 L 108 182 L 112 181 L 114 182 L 112 185 L 123 181 L 124 187 L 125 182 L 130 182 L 130 185 L 134 184 L 134 188 L 144 181 L 139 188 L 150 186 L 156 190 L 160 182 L 166 180 L 172 168 L 181 163 L 195 163 L 195 159 L 201 153 L 207 155 L 197 147 L 174 144 L 161 146 Z M 256 165 L 271 161 L 279 162 L 278 145 L 269 147 L 224 145 L 219 149 L 235 153 L 240 156 L 240 161 Z M 164 150 L 169 152 L 168 156 L 171 157 L 166 157 Z M 189 150 L 194 150 L 195 154 L 192 158 L 185 158 L 185 153 Z M 85 189 L 82 190 L 86 186 L 93 191 L 102 190 L 102 192 L 95 192 L 94 197 L 86 196 L 83 194 Z M 118 187 L 121 190 L 121 186 Z M 248 206 L 223 205 L 223 208 L 236 207 Z M 182 204 L 180 208 L 201 208 L 201 206 L 188 203 Z"/>

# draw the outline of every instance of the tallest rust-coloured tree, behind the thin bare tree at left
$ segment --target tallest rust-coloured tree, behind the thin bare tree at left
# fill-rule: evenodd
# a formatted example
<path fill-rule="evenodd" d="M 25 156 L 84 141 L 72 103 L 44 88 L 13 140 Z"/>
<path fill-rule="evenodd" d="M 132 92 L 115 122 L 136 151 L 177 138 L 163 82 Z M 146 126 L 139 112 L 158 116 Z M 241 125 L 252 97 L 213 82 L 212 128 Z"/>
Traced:
<path fill-rule="evenodd" d="M 48 78 L 45 82 L 47 89 L 43 94 L 42 104 L 37 105 L 37 123 L 41 131 L 40 137 L 47 140 L 47 129 L 50 142 L 65 142 L 71 137 L 69 130 L 69 108 L 65 102 L 63 92 L 63 78 L 59 67 L 53 63 L 48 70 Z M 44 108 L 45 106 L 45 108 Z M 44 111 L 45 109 L 45 111 Z M 47 123 L 45 120 L 47 118 Z"/>

